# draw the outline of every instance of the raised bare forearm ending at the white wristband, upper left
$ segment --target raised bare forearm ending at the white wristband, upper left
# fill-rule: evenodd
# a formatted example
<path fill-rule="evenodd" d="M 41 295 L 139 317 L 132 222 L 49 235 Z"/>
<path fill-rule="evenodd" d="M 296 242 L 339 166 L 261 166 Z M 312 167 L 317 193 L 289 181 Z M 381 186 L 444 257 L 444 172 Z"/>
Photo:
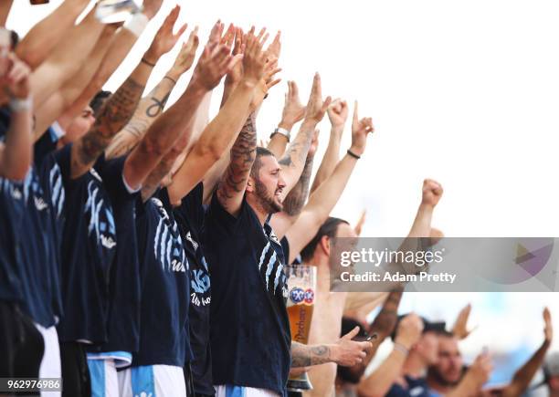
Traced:
<path fill-rule="evenodd" d="M 93 48 L 87 61 L 61 89 L 58 89 L 48 98 L 39 109 L 35 111 L 35 141 L 47 130 L 55 120 L 68 109 L 79 97 L 79 94 L 88 85 L 93 74 L 99 68 L 101 59 L 105 56 L 107 48 L 114 37 L 116 26 L 107 25 L 103 29 L 97 44 Z"/>

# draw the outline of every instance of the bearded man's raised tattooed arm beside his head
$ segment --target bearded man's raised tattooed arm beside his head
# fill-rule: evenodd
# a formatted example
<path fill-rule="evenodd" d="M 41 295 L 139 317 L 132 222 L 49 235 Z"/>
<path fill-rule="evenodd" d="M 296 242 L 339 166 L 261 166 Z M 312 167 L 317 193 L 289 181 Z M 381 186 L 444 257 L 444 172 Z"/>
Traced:
<path fill-rule="evenodd" d="M 217 187 L 217 199 L 229 212 L 237 210 L 233 208 L 235 199 L 238 200 L 238 204 L 242 200 L 248 175 L 256 158 L 256 148 L 256 117 L 251 114 L 231 148 L 231 161 Z"/>

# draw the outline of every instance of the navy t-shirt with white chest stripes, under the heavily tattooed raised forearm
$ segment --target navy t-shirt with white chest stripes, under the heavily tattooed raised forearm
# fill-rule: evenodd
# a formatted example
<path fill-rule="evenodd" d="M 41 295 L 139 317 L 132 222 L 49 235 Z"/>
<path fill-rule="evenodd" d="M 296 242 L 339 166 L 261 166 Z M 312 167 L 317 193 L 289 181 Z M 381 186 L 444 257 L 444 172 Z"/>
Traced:
<path fill-rule="evenodd" d="M 57 151 L 57 162 L 66 189 L 66 224 L 62 235 L 62 297 L 64 319 L 58 325 L 63 341 L 103 343 L 107 340 L 109 274 L 116 252 L 116 226 L 109 194 L 96 167 L 70 178 L 71 144 Z M 114 174 L 121 174 L 113 167 Z"/>

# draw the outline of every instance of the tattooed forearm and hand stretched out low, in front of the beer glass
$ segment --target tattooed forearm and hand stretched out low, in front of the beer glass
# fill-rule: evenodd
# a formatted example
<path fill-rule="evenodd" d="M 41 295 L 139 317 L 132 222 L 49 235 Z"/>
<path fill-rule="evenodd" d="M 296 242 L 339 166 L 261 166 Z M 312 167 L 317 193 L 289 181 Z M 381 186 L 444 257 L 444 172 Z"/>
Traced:
<path fill-rule="evenodd" d="M 365 357 L 364 350 L 370 348 L 371 343 L 352 340 L 358 332 L 359 328 L 355 327 L 336 343 L 329 345 L 304 345 L 291 341 L 291 368 L 309 367 L 326 362 L 352 366 L 361 362 Z"/>

